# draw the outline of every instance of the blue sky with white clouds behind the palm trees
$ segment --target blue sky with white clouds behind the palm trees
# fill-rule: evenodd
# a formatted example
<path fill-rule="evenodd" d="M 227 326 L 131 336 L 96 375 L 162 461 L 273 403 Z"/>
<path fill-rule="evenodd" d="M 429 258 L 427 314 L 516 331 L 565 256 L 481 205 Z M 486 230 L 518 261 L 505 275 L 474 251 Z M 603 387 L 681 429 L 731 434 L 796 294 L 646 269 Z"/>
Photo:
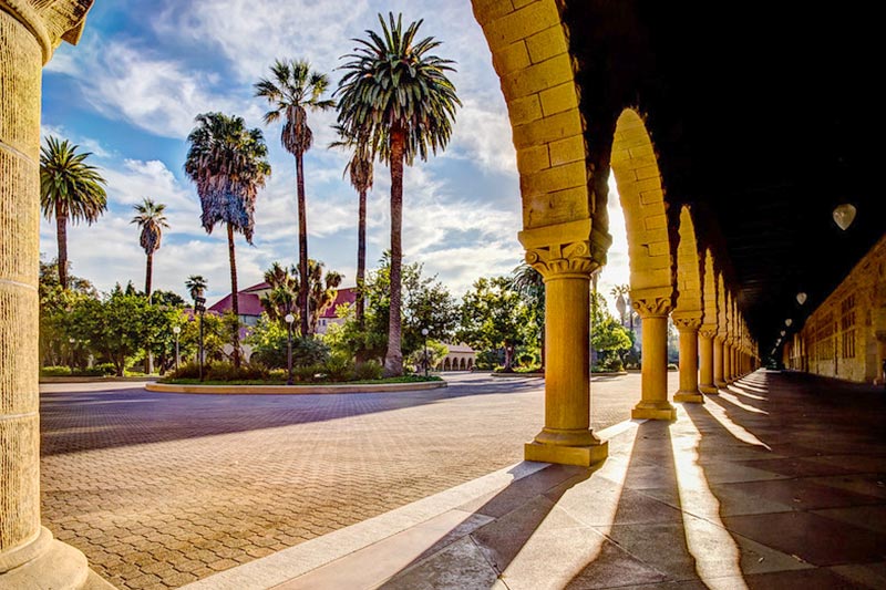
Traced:
<path fill-rule="evenodd" d="M 240 288 L 261 281 L 271 262 L 297 260 L 295 162 L 280 145 L 280 126 L 265 127 L 264 99 L 253 85 L 278 58 L 306 59 L 334 89 L 340 56 L 352 38 L 378 29 L 380 11 L 425 19 L 420 35 L 443 44 L 455 60 L 451 74 L 464 106 L 449 147 L 404 174 L 403 248 L 461 297 L 482 276 L 507 275 L 523 260 L 519 186 L 507 111 L 488 48 L 468 0 L 346 2 L 315 0 L 100 1 L 78 46 L 62 44 L 43 74 L 42 134 L 69 138 L 92 152 L 107 180 L 109 210 L 94 225 L 69 227 L 72 272 L 102 291 L 114 283 L 144 286 L 145 253 L 133 206 L 144 197 L 166 204 L 169 228 L 154 256 L 153 288 L 184 294 L 190 275 L 208 279 L 210 302 L 230 290 L 226 235 L 207 235 L 199 199 L 184 175 L 186 137 L 208 111 L 237 114 L 260 127 L 272 175 L 256 203 L 254 245 L 237 237 Z M 305 157 L 308 252 L 354 283 L 357 195 L 342 170 L 346 153 L 334 139 L 334 112 L 310 113 L 313 147 Z M 368 267 L 390 241 L 390 176 L 375 166 L 368 199 Z M 610 193 L 610 195 L 612 195 Z M 612 195 L 615 196 L 615 195 Z M 618 199 L 610 198 L 615 244 L 599 290 L 628 282 L 627 241 Z M 43 220 L 41 252 L 56 256 L 54 222 Z"/>

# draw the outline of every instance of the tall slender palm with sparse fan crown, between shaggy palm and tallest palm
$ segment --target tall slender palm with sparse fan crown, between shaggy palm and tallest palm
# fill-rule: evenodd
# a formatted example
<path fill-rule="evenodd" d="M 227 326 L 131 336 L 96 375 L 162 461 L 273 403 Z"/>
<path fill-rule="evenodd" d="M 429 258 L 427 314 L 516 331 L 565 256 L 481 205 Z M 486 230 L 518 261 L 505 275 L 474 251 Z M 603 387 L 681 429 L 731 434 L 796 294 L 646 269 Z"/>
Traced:
<path fill-rule="evenodd" d="M 296 190 L 298 194 L 298 265 L 301 289 L 298 303 L 301 315 L 301 335 L 308 333 L 308 219 L 305 201 L 305 166 L 302 157 L 313 143 L 308 126 L 308 111 L 326 111 L 334 101 L 322 99 L 329 86 L 326 74 L 311 71 L 303 60 L 277 60 L 270 66 L 272 80 L 261 79 L 255 85 L 256 96 L 268 100 L 271 110 L 265 113 L 265 124 L 285 118 L 280 142 L 296 157 Z"/>

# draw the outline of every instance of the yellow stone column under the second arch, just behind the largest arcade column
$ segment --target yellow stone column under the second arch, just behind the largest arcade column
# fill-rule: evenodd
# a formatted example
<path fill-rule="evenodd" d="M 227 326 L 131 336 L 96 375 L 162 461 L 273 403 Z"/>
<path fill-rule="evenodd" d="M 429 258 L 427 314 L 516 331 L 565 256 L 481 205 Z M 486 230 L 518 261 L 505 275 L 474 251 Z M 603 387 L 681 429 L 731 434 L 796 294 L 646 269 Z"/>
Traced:
<path fill-rule="evenodd" d="M 676 420 L 668 401 L 668 313 L 670 297 L 631 291 L 631 304 L 642 321 L 642 384 L 640 403 L 631 410 L 635 420 Z"/>

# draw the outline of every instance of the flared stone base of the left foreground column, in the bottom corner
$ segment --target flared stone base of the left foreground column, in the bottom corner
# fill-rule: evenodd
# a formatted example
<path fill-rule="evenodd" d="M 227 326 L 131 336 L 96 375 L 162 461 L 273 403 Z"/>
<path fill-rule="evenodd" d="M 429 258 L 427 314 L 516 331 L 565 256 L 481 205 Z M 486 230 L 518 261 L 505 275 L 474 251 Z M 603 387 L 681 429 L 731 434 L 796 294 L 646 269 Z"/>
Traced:
<path fill-rule="evenodd" d="M 52 538 L 45 527 L 40 536 L 17 555 L 0 557 L 0 590 L 114 590 L 89 568 L 86 556 L 70 545 Z M 17 557 L 28 557 L 27 561 L 14 566 Z M 3 559 L 6 558 L 6 559 Z M 13 566 L 10 569 L 6 569 Z"/>

